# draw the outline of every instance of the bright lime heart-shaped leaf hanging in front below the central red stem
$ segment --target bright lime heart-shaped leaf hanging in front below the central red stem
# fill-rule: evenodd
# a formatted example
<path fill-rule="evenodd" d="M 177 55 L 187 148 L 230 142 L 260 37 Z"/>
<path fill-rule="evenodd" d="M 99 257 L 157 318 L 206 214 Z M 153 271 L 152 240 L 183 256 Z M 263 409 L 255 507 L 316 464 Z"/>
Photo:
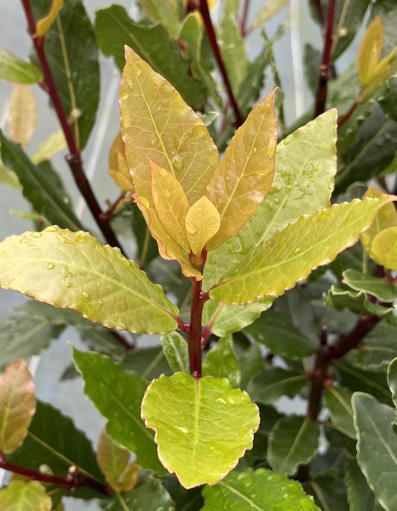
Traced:
<path fill-rule="evenodd" d="M 246 392 L 225 379 L 185 373 L 162 375 L 150 384 L 142 417 L 156 432 L 161 463 L 185 488 L 218 482 L 252 448 L 259 427 L 258 407 Z"/>

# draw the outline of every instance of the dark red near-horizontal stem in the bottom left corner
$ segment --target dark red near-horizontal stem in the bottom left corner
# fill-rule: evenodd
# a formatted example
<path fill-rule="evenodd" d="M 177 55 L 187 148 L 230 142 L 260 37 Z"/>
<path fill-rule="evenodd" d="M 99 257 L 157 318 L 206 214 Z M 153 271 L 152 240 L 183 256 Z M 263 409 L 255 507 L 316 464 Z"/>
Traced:
<path fill-rule="evenodd" d="M 99 481 L 95 479 L 90 479 L 86 476 L 74 476 L 72 474 L 68 474 L 66 477 L 59 477 L 49 474 L 42 474 L 41 472 L 37 472 L 36 470 L 26 469 L 24 467 L 19 467 L 14 463 L 10 463 L 7 461 L 5 455 L 0 453 L 0 468 L 4 470 L 8 470 L 9 472 L 13 472 L 14 474 L 20 474 L 22 476 L 26 476 L 33 481 L 41 481 L 47 482 L 51 484 L 59 484 L 67 488 L 68 490 L 76 489 L 80 486 L 85 486 L 91 488 L 91 490 L 95 490 L 102 495 L 111 495 L 112 490 L 110 487 L 105 486 Z"/>

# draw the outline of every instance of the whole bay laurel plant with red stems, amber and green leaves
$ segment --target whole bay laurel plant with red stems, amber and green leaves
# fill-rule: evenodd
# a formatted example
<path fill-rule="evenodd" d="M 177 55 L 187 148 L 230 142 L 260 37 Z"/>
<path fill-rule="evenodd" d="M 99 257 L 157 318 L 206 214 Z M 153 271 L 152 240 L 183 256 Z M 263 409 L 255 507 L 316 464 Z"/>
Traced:
<path fill-rule="evenodd" d="M 397 11 L 313 2 L 315 105 L 287 128 L 273 55 L 284 29 L 262 32 L 254 62 L 244 41 L 285 2 L 251 27 L 249 2 L 241 15 L 221 4 L 218 29 L 206 0 L 141 0 L 142 21 L 112 5 L 93 27 L 79 0 L 22 0 L 36 57 L 0 51 L 16 84 L 0 178 L 35 228 L 0 242 L 0 286 L 33 300 L 0 326 L 0 468 L 12 474 L 0 511 L 61 511 L 64 497 L 112 511 L 397 510 Z M 107 211 L 82 160 L 97 45 L 122 71 L 108 172 L 120 197 Z M 28 155 L 34 83 L 62 130 Z M 65 147 L 100 233 L 52 167 Z M 95 450 L 36 398 L 26 362 L 68 326 L 87 350 L 72 348 L 62 379 L 81 378 L 105 420 Z"/>

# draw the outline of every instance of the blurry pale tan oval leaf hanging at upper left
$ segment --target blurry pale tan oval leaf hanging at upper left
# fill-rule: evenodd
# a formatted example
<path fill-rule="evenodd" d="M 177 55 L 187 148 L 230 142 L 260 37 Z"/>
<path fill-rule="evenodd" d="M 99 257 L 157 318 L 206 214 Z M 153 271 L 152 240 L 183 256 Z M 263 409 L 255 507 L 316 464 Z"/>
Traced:
<path fill-rule="evenodd" d="M 13 142 L 29 144 L 36 129 L 36 99 L 29 85 L 15 85 L 8 106 L 8 131 Z"/>

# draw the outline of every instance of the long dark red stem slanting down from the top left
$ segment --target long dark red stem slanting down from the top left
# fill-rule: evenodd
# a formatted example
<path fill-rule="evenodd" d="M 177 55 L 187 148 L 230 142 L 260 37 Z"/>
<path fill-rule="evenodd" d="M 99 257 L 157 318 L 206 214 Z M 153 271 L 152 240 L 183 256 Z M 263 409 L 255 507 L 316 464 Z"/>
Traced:
<path fill-rule="evenodd" d="M 91 186 L 88 182 L 88 179 L 86 178 L 83 167 L 82 167 L 82 161 L 81 161 L 81 154 L 79 149 L 76 146 L 75 139 L 72 133 L 71 126 L 68 123 L 66 113 L 63 109 L 61 99 L 58 94 L 58 89 L 55 84 L 54 78 L 51 73 L 50 66 L 48 64 L 48 61 L 46 59 L 45 53 L 44 53 L 44 37 L 35 37 L 34 34 L 36 33 L 36 22 L 33 17 L 32 9 L 30 6 L 30 0 L 21 0 L 22 6 L 24 7 L 26 18 L 28 21 L 29 31 L 31 33 L 33 44 L 36 49 L 37 57 L 40 63 L 41 71 L 44 76 L 45 80 L 45 87 L 44 89 L 48 91 L 48 94 L 51 98 L 51 101 L 54 105 L 54 109 L 57 113 L 58 120 L 61 124 L 62 131 L 65 135 L 65 140 L 67 143 L 67 147 L 69 149 L 69 155 L 66 156 L 67 164 L 69 165 L 69 168 L 72 171 L 73 177 L 75 178 L 76 184 L 84 196 L 87 205 L 92 213 L 92 216 L 94 216 L 95 221 L 97 222 L 99 228 L 102 231 L 103 236 L 105 237 L 106 241 L 109 243 L 109 245 L 113 247 L 120 247 L 121 245 L 117 238 L 115 237 L 112 228 L 109 225 L 109 222 L 106 220 L 103 220 L 101 218 L 102 210 L 100 205 L 98 204 L 98 201 L 94 195 L 94 192 L 92 192 Z M 123 251 L 123 250 L 122 250 Z"/>

